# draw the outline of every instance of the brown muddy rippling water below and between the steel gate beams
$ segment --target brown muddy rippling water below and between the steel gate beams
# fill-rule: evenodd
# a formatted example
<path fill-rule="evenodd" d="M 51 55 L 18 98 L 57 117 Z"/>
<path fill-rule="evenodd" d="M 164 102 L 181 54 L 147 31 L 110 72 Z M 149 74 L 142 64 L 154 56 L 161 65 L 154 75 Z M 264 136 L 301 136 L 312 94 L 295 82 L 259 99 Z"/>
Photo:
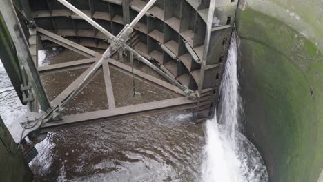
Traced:
<path fill-rule="evenodd" d="M 83 59 L 68 50 L 46 51 L 41 65 Z M 143 65 L 136 67 L 149 72 Z M 83 69 L 41 76 L 50 100 Z M 153 74 L 150 72 L 150 74 Z M 116 105 L 178 97 L 155 85 L 111 69 Z M 108 108 L 104 77 L 97 77 L 68 105 L 64 114 Z M 52 132 L 37 145 L 30 163 L 35 181 L 199 181 L 204 147 L 203 125 L 179 111 Z"/>

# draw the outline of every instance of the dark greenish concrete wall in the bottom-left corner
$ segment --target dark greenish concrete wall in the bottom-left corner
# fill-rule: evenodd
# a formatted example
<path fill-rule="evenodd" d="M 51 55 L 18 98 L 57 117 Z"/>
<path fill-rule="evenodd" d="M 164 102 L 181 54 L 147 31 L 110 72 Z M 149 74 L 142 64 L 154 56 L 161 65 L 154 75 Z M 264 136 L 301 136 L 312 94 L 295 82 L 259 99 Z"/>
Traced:
<path fill-rule="evenodd" d="M 0 181 L 32 181 L 32 172 L 0 117 Z"/>

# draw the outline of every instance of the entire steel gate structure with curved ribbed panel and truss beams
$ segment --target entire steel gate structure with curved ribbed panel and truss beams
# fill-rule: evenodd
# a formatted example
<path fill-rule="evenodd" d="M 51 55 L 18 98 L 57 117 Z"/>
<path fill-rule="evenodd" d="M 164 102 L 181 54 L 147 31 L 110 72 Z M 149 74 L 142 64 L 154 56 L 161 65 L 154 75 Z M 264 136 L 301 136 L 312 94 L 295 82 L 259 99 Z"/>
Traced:
<path fill-rule="evenodd" d="M 39 102 L 41 110 L 46 112 L 42 117 L 28 123 L 14 123 L 12 128 L 18 130 L 17 128 L 20 127 L 19 131 L 23 132 L 21 138 L 14 137 L 17 143 L 26 136 L 37 138 L 43 133 L 68 127 L 173 110 L 190 109 L 194 112 L 195 121 L 206 120 L 212 116 L 213 108 L 219 100 L 218 90 L 226 63 L 237 2 L 30 0 L 29 3 L 21 1 L 19 6 L 14 5 L 10 0 L 1 0 L 1 2 L 1 14 L 14 46 L 19 52 L 17 55 L 18 65 L 21 67 L 20 74 L 25 75 L 23 78 L 26 81 L 24 83 L 21 81 L 23 85 L 21 88 L 24 88 L 23 92 L 30 97 L 37 98 L 28 100 L 28 104 L 31 105 L 29 111 L 38 112 L 35 105 Z M 84 7 L 85 2 L 88 10 L 75 7 Z M 44 3 L 46 10 L 41 8 Z M 106 5 L 108 11 L 103 12 L 100 5 Z M 219 10 L 220 8 L 222 10 Z M 51 28 L 48 28 L 48 21 L 44 23 L 43 19 L 50 20 Z M 62 29 L 57 23 L 67 19 L 72 22 L 72 29 Z M 26 27 L 23 27 L 25 24 L 21 23 L 22 21 L 25 21 L 29 30 L 28 41 L 24 38 Z M 78 22 L 89 23 L 92 30 L 81 29 Z M 110 26 L 106 26 L 107 24 Z M 70 39 L 71 37 L 76 37 L 76 40 Z M 90 37 L 95 44 L 81 41 L 84 37 Z M 61 45 L 88 59 L 37 68 L 39 45 L 45 47 Z M 105 52 L 100 54 L 87 47 L 104 48 Z M 133 59 L 137 59 L 164 77 L 166 81 L 126 65 L 120 60 L 112 59 L 116 53 L 122 57 L 122 52 L 128 52 L 127 58 L 130 63 Z M 86 70 L 50 102 L 39 74 L 79 68 L 86 68 Z M 180 97 L 118 108 L 115 105 L 110 68 L 135 75 L 136 79 L 159 85 L 161 88 L 179 94 Z M 90 83 L 100 69 L 104 74 L 108 110 L 61 117 L 61 112 L 66 105 Z M 13 79 L 12 77 L 10 79 Z M 31 126 L 25 130 L 25 126 L 30 123 Z M 21 132 L 13 135 L 19 134 Z"/>

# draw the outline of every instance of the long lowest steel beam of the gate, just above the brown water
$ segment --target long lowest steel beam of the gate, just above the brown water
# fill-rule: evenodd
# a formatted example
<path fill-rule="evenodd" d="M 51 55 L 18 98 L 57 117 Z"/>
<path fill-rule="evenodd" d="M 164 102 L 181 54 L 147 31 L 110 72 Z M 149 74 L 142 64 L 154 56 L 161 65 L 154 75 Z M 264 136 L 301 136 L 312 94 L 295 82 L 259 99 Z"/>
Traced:
<path fill-rule="evenodd" d="M 162 112 L 171 112 L 175 110 L 186 110 L 196 108 L 196 102 L 188 100 L 187 97 L 167 99 L 163 101 L 154 101 L 150 103 L 141 103 L 129 105 L 111 110 L 99 110 L 75 114 L 63 117 L 62 121 L 48 122 L 41 126 L 41 132 L 53 132 L 80 125 L 90 125 L 103 121 L 118 121 L 133 117 L 141 117 L 148 114 L 158 114 Z"/>

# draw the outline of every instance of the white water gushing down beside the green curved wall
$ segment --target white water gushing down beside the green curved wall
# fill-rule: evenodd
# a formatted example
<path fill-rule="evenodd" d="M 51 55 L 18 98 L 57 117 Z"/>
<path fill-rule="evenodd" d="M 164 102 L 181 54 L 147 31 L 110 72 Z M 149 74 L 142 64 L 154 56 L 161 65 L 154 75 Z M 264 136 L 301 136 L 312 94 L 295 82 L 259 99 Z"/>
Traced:
<path fill-rule="evenodd" d="M 205 182 L 268 181 L 268 173 L 255 146 L 239 133 L 239 111 L 242 109 L 237 78 L 237 43 L 231 39 L 228 61 L 220 87 L 222 102 L 217 114 L 206 121 L 205 160 L 202 179 Z"/>

